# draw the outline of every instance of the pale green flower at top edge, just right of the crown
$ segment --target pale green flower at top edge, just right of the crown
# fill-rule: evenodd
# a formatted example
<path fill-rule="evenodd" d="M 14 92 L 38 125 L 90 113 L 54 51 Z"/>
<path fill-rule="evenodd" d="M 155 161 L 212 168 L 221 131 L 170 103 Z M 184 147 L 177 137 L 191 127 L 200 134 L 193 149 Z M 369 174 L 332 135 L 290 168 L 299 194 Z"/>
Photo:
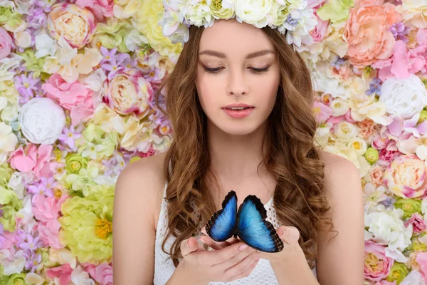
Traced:
<path fill-rule="evenodd" d="M 316 11 L 323 21 L 332 23 L 345 21 L 349 17 L 349 10 L 354 6 L 354 0 L 330 0 Z"/>

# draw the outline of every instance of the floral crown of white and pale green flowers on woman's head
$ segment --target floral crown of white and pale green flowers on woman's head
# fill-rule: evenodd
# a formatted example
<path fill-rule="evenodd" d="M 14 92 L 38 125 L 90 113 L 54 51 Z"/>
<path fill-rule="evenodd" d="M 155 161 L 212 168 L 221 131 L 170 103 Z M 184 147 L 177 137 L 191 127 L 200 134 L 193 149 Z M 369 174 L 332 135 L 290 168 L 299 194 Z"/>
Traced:
<path fill-rule="evenodd" d="M 278 28 L 295 49 L 312 43 L 310 31 L 317 25 L 307 0 L 163 0 L 163 6 L 159 25 L 172 43 L 186 43 L 191 25 L 207 28 L 215 19 L 235 18 L 257 28 Z"/>

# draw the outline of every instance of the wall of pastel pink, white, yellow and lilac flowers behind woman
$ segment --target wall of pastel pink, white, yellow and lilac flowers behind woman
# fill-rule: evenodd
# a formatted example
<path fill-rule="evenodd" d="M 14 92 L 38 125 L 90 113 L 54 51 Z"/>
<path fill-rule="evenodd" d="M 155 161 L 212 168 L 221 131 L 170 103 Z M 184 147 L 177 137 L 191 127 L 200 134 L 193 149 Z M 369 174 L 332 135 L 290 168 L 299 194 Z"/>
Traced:
<path fill-rule="evenodd" d="M 426 284 L 427 0 L 309 5 L 317 143 L 359 168 L 365 284 Z M 162 13 L 0 0 L 0 284 L 112 284 L 117 176 L 171 141 L 153 95 L 181 46 Z"/>

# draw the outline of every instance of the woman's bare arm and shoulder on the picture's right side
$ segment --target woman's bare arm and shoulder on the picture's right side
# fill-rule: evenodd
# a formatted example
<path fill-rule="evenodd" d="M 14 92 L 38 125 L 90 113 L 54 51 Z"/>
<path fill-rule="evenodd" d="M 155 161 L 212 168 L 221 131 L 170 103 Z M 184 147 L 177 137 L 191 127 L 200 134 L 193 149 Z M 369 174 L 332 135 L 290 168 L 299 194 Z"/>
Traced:
<path fill-rule="evenodd" d="M 364 207 L 362 181 L 357 167 L 347 158 L 321 151 L 325 163 L 328 217 L 334 231 L 319 232 L 317 276 L 320 284 L 363 284 Z M 331 239 L 331 237 L 334 237 Z"/>

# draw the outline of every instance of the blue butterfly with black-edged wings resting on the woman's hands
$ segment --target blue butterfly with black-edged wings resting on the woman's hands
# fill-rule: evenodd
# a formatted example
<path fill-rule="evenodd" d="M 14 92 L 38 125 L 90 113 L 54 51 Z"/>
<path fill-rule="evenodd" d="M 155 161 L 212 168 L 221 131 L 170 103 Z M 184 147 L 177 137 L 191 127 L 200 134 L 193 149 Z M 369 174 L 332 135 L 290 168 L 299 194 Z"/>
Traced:
<path fill-rule="evenodd" d="M 283 242 L 273 224 L 266 221 L 267 211 L 255 195 L 249 195 L 237 210 L 237 195 L 233 190 L 223 200 L 222 209 L 206 224 L 206 232 L 216 242 L 230 237 L 240 239 L 262 252 L 280 252 Z"/>

